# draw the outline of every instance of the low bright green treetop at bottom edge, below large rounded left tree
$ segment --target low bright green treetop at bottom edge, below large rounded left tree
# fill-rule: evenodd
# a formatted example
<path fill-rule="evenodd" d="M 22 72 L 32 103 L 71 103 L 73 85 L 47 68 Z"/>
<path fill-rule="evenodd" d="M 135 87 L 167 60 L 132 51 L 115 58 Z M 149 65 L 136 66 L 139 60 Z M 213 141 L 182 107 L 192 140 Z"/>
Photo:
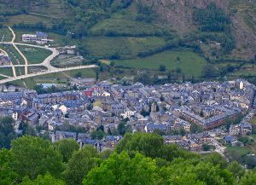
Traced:
<path fill-rule="evenodd" d="M 20 185 L 65 185 L 65 182 L 59 179 L 55 179 L 54 176 L 51 176 L 49 173 L 46 173 L 44 176 L 39 175 L 35 180 L 30 180 L 28 177 L 25 177 Z"/>

